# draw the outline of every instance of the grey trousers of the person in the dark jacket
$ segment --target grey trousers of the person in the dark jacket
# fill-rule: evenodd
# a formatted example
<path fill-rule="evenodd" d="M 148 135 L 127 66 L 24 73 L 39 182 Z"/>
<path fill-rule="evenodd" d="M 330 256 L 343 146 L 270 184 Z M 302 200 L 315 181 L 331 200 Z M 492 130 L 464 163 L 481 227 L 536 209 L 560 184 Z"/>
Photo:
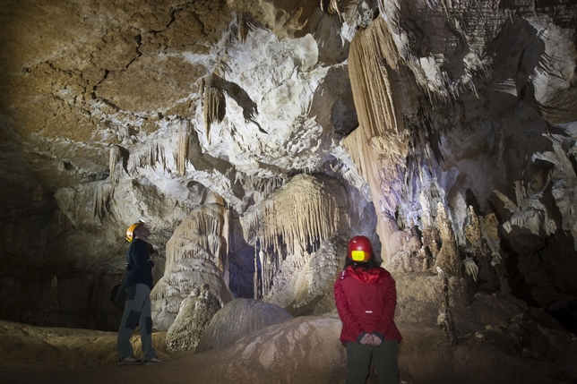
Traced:
<path fill-rule="evenodd" d="M 121 359 L 134 354 L 130 337 L 138 325 L 141 328 L 144 360 L 158 357 L 152 347 L 151 288 L 145 284 L 126 288 L 125 312 L 118 329 L 118 353 Z"/>

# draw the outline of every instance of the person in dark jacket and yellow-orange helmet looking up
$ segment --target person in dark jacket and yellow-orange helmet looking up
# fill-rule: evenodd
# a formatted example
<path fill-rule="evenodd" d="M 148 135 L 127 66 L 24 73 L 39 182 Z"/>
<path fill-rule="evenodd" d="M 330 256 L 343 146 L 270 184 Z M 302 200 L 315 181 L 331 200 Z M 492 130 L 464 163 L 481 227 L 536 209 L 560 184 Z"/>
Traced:
<path fill-rule="evenodd" d="M 118 365 L 138 365 L 160 363 L 162 360 L 152 346 L 152 317 L 151 317 L 151 289 L 152 268 L 147 238 L 151 231 L 142 221 L 139 221 L 126 230 L 126 241 L 130 243 L 126 253 L 126 303 L 118 330 L 117 347 L 120 359 Z M 136 359 L 133 346 L 130 343 L 134 329 L 140 325 L 142 353 L 144 361 Z"/>

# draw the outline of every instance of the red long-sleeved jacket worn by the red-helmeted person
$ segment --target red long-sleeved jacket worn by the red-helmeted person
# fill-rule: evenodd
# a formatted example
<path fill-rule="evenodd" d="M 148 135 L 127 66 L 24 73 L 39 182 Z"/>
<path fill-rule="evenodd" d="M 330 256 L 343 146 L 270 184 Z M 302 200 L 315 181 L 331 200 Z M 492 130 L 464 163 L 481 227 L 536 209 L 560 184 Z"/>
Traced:
<path fill-rule="evenodd" d="M 397 289 L 387 270 L 347 267 L 334 283 L 334 299 L 342 321 L 342 344 L 359 342 L 366 333 L 382 340 L 402 339 L 393 320 Z"/>

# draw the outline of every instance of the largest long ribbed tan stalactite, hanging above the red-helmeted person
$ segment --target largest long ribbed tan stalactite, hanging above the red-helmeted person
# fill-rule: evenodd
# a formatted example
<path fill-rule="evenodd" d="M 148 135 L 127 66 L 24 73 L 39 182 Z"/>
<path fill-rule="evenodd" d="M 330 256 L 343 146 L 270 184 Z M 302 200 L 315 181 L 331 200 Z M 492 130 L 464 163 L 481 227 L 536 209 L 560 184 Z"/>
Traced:
<path fill-rule="evenodd" d="M 393 95 L 398 57 L 383 18 L 358 31 L 351 41 L 349 77 L 359 126 L 343 141 L 359 175 L 371 185 L 373 201 L 389 214 L 400 203 L 410 143 Z"/>

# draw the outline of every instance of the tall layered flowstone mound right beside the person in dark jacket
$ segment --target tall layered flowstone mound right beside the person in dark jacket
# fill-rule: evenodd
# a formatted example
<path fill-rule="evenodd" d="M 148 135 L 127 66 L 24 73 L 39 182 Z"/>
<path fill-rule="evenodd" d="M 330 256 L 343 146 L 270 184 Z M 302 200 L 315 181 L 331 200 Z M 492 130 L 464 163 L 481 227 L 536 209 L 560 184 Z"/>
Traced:
<path fill-rule="evenodd" d="M 175 230 L 167 243 L 164 276 L 151 291 L 152 319 L 156 329 L 171 329 L 183 308 L 186 311 L 177 329 L 201 327 L 190 325 L 187 317 L 202 305 L 203 302 L 197 298 L 202 287 L 202 294 L 206 296 L 204 299 L 211 299 L 204 311 L 210 312 L 210 315 L 203 312 L 204 325 L 197 329 L 197 342 L 202 336 L 203 327 L 208 325 L 211 316 L 218 310 L 213 310 L 215 305 L 212 302 L 220 308 L 233 299 L 223 279 L 225 270 L 228 272 L 227 218 L 228 209 L 216 202 L 206 204 L 192 211 Z M 174 329 L 169 330 L 171 337 L 174 332 Z M 186 344 L 186 347 L 196 346 L 195 342 Z M 171 347 L 182 348 L 180 344 Z"/>

